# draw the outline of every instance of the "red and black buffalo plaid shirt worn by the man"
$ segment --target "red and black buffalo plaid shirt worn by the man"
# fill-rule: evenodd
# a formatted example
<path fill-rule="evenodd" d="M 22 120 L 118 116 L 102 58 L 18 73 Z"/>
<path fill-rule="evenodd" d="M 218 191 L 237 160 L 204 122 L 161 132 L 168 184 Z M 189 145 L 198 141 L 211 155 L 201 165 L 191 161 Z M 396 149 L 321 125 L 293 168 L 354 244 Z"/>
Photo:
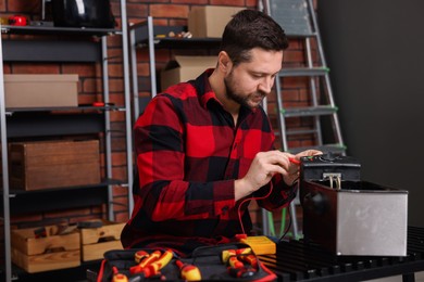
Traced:
<path fill-rule="evenodd" d="M 252 227 L 250 201 L 235 202 L 234 182 L 258 152 L 273 149 L 274 133 L 261 107 L 241 107 L 234 125 L 209 85 L 211 72 L 158 94 L 135 125 L 140 188 L 121 238 L 126 248 L 189 253 L 230 242 Z M 251 196 L 264 196 L 270 188 L 271 194 L 258 201 L 266 209 L 287 205 L 296 194 L 276 175 Z"/>

